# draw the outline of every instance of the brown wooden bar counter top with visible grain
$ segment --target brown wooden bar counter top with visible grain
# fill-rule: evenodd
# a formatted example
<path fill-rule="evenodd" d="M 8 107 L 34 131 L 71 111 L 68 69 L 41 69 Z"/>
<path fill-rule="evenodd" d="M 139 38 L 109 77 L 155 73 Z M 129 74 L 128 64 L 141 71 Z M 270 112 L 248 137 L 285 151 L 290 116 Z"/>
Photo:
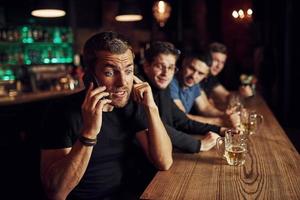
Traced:
<path fill-rule="evenodd" d="M 260 96 L 245 105 L 264 116 L 245 165 L 229 166 L 216 149 L 174 153 L 171 169 L 158 172 L 141 199 L 300 199 L 299 153 Z"/>

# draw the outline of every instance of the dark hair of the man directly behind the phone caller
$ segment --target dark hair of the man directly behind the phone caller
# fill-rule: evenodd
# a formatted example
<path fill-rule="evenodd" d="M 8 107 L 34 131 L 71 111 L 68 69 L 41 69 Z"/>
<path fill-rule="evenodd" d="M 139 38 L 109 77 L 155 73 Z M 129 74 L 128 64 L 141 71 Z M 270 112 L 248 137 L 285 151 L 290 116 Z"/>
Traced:
<path fill-rule="evenodd" d="M 172 54 L 178 59 L 180 50 L 170 42 L 156 41 L 150 44 L 145 50 L 145 60 L 148 63 L 152 63 L 156 56 L 159 54 Z"/>

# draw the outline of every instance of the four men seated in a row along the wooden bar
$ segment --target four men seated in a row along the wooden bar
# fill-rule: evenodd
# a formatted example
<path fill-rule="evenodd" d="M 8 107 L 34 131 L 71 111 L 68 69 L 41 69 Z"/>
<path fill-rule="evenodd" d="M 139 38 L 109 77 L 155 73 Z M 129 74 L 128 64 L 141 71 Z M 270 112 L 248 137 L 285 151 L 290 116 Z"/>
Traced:
<path fill-rule="evenodd" d="M 236 113 L 215 104 L 230 96 L 217 79 L 226 57 L 219 43 L 181 55 L 173 44 L 156 41 L 136 66 L 122 35 L 89 38 L 83 50 L 86 89 L 53 101 L 46 112 L 41 180 L 47 198 L 129 199 L 126 189 L 143 170 L 136 155 L 168 170 L 173 147 L 188 153 L 213 148 L 238 121 Z"/>

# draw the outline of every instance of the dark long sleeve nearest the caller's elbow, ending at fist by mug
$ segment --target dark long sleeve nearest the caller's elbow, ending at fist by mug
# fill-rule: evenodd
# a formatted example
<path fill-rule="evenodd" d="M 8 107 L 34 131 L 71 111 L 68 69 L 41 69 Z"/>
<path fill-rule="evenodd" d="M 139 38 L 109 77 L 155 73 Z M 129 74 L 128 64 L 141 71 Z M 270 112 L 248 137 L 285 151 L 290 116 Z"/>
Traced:
<path fill-rule="evenodd" d="M 169 125 L 165 124 L 165 128 L 174 147 L 188 153 L 198 153 L 200 151 L 201 142 L 199 140 Z"/>

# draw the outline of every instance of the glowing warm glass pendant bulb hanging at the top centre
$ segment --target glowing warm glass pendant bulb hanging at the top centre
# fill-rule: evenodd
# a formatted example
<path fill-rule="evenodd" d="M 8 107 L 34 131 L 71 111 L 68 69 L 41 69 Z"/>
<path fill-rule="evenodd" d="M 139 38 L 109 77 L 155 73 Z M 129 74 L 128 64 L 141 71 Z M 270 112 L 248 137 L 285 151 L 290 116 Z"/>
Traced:
<path fill-rule="evenodd" d="M 152 11 L 159 26 L 163 27 L 171 15 L 171 5 L 166 1 L 156 1 Z"/>

